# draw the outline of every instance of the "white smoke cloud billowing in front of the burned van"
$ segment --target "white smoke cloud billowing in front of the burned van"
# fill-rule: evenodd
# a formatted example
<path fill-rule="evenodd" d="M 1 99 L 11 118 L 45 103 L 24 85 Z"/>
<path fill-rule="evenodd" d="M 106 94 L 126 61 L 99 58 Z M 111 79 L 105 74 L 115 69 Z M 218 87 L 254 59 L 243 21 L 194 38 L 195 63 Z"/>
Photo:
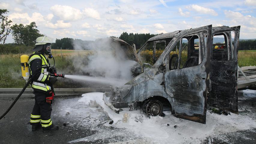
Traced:
<path fill-rule="evenodd" d="M 113 42 L 111 38 L 99 39 L 87 43 L 87 46 L 74 41 L 73 46 L 74 49 L 80 50 L 86 47 L 86 49 L 93 51 L 93 54 L 85 56 L 86 58 L 75 57 L 73 62 L 75 69 L 90 76 L 123 80 L 132 79 L 131 66 L 136 62 L 128 60 L 121 45 Z"/>

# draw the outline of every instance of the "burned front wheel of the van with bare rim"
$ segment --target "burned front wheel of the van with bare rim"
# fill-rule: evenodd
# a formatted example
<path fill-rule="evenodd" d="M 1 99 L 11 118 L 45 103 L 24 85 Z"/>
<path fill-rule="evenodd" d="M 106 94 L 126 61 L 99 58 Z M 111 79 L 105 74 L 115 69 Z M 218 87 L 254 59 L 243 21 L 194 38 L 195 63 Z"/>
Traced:
<path fill-rule="evenodd" d="M 163 113 L 163 104 L 158 100 L 150 100 L 144 103 L 143 112 L 147 116 L 161 116 Z"/>

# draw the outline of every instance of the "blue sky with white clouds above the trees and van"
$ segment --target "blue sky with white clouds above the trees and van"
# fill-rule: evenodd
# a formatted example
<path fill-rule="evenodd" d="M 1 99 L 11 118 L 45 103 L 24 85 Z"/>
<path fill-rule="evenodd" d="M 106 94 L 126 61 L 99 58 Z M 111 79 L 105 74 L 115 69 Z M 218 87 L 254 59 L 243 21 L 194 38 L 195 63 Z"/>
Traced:
<path fill-rule="evenodd" d="M 52 38 L 95 40 L 128 33 L 166 33 L 213 26 L 241 26 L 240 38 L 256 38 L 256 0 L 5 0 L 13 23 L 36 22 Z M 12 43 L 10 35 L 7 43 Z"/>

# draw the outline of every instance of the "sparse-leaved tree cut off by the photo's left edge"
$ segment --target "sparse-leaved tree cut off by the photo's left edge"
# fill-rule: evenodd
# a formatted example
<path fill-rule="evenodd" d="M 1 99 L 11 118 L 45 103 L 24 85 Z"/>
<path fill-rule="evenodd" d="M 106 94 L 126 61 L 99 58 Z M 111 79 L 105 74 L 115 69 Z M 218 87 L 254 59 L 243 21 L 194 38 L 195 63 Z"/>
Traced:
<path fill-rule="evenodd" d="M 11 20 L 8 20 L 8 16 L 4 16 L 3 14 L 8 13 L 7 9 L 0 9 L 0 19 L 1 19 L 1 31 L 0 31 L 0 41 L 3 41 L 5 44 L 5 40 L 7 36 L 11 32 Z"/>

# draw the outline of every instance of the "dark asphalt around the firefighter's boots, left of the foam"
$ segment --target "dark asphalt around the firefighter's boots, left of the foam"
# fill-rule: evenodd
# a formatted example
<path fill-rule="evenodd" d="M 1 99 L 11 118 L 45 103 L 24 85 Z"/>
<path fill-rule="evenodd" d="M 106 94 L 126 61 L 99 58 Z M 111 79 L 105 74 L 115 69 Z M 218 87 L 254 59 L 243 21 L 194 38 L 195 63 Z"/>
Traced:
<path fill-rule="evenodd" d="M 2 98 L 0 100 L 1 114 L 7 110 L 13 101 L 14 98 Z M 65 117 L 54 116 L 52 116 L 52 121 L 59 126 L 58 131 L 43 133 L 42 129 L 40 129 L 32 132 L 29 119 L 34 102 L 34 98 L 20 98 L 5 118 L 0 120 L 0 143 L 58 144 L 67 143 L 68 141 L 94 134 L 94 131 L 81 127 L 76 128 L 75 125 L 72 127 L 68 124 L 64 126 L 63 123 L 67 122 Z M 54 104 L 52 108 L 54 113 L 56 110 Z"/>

